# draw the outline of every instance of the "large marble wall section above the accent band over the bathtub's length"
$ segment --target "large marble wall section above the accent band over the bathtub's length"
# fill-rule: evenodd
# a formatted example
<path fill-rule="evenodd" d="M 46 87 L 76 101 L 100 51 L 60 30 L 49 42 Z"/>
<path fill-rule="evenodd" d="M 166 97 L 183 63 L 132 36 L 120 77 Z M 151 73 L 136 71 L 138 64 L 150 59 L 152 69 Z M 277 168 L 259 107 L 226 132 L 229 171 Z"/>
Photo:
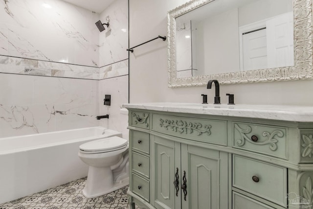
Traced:
<path fill-rule="evenodd" d="M 97 67 L 98 19 L 62 0 L 0 1 L 0 55 Z"/>

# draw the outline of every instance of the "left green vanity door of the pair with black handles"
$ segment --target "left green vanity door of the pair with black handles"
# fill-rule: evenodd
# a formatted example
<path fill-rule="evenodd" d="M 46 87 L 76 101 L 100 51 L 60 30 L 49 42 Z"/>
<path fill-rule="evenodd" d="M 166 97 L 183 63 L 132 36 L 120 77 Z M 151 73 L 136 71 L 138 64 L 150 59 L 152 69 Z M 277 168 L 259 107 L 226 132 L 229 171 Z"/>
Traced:
<path fill-rule="evenodd" d="M 157 136 L 152 138 L 152 201 L 157 209 L 180 209 L 180 182 L 177 196 L 174 186 L 177 168 L 180 171 L 180 143 Z"/>

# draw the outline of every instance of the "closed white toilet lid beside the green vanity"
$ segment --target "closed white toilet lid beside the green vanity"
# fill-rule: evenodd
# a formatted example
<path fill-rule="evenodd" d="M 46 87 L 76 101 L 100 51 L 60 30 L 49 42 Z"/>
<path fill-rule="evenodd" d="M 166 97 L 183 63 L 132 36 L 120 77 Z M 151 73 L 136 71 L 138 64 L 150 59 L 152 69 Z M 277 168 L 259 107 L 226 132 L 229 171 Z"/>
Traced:
<path fill-rule="evenodd" d="M 128 140 L 120 137 L 108 137 L 104 139 L 98 139 L 89 141 L 79 146 L 81 151 L 86 152 L 111 152 L 119 149 L 123 149 L 128 145 Z"/>

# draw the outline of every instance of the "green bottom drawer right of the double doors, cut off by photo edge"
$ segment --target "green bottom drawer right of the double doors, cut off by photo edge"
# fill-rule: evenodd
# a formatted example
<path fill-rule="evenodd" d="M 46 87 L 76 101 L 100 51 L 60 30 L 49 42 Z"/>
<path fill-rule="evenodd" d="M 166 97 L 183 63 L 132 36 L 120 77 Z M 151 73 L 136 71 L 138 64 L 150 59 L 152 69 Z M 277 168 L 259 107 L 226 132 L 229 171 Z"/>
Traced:
<path fill-rule="evenodd" d="M 275 209 L 245 195 L 233 192 L 233 209 Z"/>

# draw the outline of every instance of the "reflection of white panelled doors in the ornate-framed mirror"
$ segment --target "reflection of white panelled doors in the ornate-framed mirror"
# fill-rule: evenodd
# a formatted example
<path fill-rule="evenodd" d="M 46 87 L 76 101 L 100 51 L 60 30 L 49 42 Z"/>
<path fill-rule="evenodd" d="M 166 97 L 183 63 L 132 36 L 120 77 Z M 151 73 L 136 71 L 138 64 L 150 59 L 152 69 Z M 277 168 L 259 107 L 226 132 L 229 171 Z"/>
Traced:
<path fill-rule="evenodd" d="M 240 27 L 240 69 L 293 66 L 292 32 L 292 12 Z"/>

